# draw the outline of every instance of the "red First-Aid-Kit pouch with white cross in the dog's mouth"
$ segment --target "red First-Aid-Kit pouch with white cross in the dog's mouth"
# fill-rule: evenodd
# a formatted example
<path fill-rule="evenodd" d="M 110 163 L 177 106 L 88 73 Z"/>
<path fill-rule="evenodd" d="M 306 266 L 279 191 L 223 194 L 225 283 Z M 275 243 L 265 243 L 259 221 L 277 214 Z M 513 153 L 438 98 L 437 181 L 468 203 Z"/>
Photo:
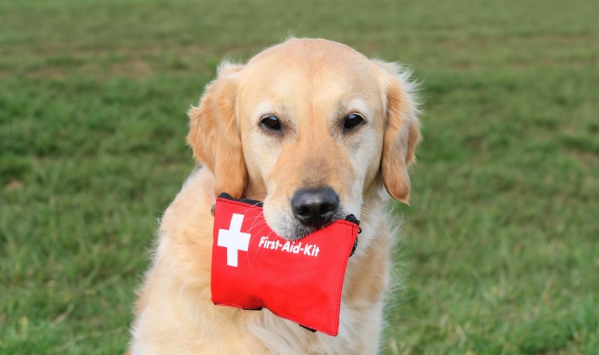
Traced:
<path fill-rule="evenodd" d="M 350 214 L 290 242 L 267 226 L 262 203 L 221 194 L 215 205 L 212 302 L 264 307 L 306 329 L 336 336 L 345 267 L 359 230 Z"/>

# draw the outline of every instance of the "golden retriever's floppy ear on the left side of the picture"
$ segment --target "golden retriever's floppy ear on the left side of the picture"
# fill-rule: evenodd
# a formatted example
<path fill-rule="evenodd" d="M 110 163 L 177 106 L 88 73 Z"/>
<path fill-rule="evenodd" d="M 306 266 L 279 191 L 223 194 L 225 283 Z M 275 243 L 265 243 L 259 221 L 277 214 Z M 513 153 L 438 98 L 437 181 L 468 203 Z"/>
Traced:
<path fill-rule="evenodd" d="M 215 196 L 241 198 L 247 185 L 241 136 L 235 118 L 239 72 L 243 65 L 221 63 L 217 78 L 206 86 L 198 107 L 187 112 L 187 143 L 197 161 L 215 174 Z"/>

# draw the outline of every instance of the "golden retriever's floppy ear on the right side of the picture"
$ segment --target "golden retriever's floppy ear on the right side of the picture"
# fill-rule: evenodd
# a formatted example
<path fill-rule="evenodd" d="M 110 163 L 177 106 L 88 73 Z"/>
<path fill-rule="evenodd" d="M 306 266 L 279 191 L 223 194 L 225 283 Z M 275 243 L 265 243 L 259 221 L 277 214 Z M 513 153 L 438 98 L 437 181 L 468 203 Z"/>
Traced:
<path fill-rule="evenodd" d="M 387 99 L 380 172 L 389 195 L 408 203 L 407 166 L 416 158 L 414 150 L 421 139 L 414 83 L 410 81 L 410 72 L 396 63 L 373 62 L 382 70 Z"/>

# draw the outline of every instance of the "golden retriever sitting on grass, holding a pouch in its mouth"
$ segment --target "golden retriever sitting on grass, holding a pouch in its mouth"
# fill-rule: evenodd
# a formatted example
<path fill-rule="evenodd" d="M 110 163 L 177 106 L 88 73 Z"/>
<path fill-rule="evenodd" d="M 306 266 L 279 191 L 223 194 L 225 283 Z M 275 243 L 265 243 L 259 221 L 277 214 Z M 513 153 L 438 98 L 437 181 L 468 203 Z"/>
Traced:
<path fill-rule="evenodd" d="M 187 142 L 203 165 L 162 217 L 131 354 L 376 354 L 396 224 L 384 206 L 389 196 L 408 202 L 421 138 L 414 90 L 400 65 L 323 39 L 290 38 L 246 64 L 221 63 L 188 112 Z M 338 336 L 210 301 L 221 192 L 263 201 L 268 226 L 290 240 L 347 214 L 361 220 Z"/>

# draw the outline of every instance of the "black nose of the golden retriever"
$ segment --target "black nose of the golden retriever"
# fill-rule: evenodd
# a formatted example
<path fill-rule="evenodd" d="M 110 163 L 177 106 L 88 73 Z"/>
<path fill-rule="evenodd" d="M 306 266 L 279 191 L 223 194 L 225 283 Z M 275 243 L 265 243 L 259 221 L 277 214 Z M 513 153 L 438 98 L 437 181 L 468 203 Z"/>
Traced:
<path fill-rule="evenodd" d="M 328 187 L 301 189 L 291 199 L 293 216 L 306 226 L 320 228 L 329 223 L 339 207 L 339 195 Z"/>

